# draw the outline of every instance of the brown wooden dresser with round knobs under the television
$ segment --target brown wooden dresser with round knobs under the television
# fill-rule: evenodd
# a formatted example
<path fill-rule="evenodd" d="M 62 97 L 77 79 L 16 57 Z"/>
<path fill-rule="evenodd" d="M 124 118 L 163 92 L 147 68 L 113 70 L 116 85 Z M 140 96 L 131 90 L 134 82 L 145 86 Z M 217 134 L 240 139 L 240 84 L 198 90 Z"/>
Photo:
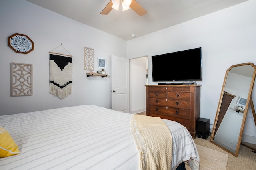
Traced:
<path fill-rule="evenodd" d="M 184 125 L 196 136 L 201 85 L 146 85 L 146 115 Z"/>

